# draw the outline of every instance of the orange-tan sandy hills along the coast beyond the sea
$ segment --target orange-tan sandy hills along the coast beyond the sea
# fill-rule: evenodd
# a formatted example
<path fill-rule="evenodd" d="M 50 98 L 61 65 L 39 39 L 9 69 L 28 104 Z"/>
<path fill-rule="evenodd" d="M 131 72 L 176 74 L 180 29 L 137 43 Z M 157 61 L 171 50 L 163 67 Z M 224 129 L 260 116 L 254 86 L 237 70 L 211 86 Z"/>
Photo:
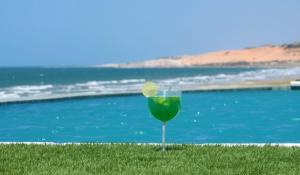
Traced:
<path fill-rule="evenodd" d="M 194 66 L 299 66 L 300 43 L 265 45 L 241 50 L 225 50 L 199 55 L 160 58 L 100 67 L 194 67 Z"/>

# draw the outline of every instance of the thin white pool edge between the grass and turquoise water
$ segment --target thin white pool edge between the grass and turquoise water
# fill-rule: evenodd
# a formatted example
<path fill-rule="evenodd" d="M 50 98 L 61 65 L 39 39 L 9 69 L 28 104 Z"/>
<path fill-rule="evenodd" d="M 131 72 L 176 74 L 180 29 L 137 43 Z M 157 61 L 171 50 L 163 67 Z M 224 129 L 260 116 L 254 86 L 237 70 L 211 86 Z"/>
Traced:
<path fill-rule="evenodd" d="M 132 145 L 160 145 L 160 143 L 95 143 L 95 142 L 0 142 L 0 145 L 16 145 L 16 144 L 25 144 L 25 145 L 81 145 L 81 144 L 91 144 L 91 145 L 123 145 L 123 144 L 132 144 Z M 200 144 L 191 144 L 191 143 L 168 143 L 167 145 L 195 145 L 195 146 L 279 146 L 279 147 L 300 147 L 300 143 L 200 143 Z"/>

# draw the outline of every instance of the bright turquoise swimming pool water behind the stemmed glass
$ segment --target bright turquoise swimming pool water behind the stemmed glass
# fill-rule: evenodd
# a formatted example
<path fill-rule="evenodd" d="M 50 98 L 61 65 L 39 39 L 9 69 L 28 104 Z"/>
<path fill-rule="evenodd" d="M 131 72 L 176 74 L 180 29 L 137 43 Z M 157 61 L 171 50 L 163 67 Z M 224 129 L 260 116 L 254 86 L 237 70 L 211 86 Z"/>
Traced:
<path fill-rule="evenodd" d="M 300 142 L 300 91 L 183 93 L 167 142 Z M 0 141 L 160 142 L 142 96 L 0 105 Z"/>

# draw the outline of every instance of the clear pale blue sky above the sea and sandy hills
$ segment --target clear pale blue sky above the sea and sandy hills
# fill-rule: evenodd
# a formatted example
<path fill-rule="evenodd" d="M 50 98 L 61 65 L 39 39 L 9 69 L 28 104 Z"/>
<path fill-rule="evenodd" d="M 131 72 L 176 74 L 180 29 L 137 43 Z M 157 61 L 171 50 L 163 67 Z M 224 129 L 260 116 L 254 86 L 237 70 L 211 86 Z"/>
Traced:
<path fill-rule="evenodd" d="M 3 0 L 0 66 L 88 66 L 300 41 L 299 0 Z"/>

